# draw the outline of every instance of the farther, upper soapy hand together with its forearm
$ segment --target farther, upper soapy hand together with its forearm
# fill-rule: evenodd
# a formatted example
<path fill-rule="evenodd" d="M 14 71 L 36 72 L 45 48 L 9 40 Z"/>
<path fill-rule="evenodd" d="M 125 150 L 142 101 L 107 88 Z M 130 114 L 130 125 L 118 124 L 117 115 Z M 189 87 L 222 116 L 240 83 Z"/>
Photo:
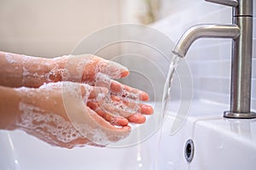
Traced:
<path fill-rule="evenodd" d="M 104 100 L 88 100 L 86 108 L 90 109 L 88 111 L 94 111 L 102 116 L 107 121 L 104 123 L 110 122 L 112 125 L 123 127 L 127 127 L 129 122 L 143 123 L 146 120 L 144 115 L 153 113 L 151 106 L 141 103 L 148 100 L 148 94 L 113 80 L 129 75 L 129 71 L 124 66 L 115 62 L 90 54 L 63 56 L 55 59 L 34 58 L 3 52 L 0 53 L 0 56 L 1 71 L 3 72 L 0 83 L 3 86 L 38 88 L 45 82 L 69 81 L 108 88 L 108 94 Z M 36 92 L 37 90 L 42 90 L 42 88 L 32 91 Z M 38 96 L 42 95 L 38 93 Z M 34 96 L 32 99 L 36 99 L 36 97 Z M 38 99 L 38 101 L 40 100 L 42 99 Z M 35 101 L 30 105 L 33 103 Z M 101 120 L 103 121 L 103 119 Z"/>

